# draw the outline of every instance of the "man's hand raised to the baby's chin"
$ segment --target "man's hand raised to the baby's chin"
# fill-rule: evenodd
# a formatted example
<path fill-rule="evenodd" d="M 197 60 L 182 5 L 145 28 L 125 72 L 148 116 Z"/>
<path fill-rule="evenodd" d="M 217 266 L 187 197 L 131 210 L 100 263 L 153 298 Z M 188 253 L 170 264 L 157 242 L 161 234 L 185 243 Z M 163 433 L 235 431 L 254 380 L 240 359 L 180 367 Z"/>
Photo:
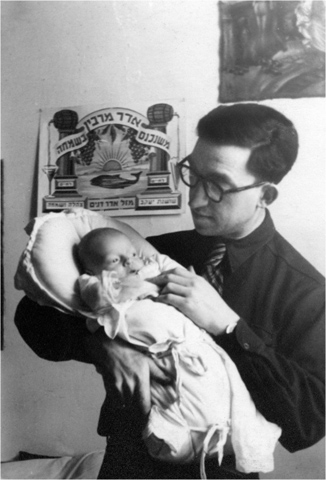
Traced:
<path fill-rule="evenodd" d="M 159 302 L 178 308 L 199 327 L 213 335 L 221 335 L 239 316 L 222 300 L 203 277 L 193 271 L 175 268 L 151 282 L 163 287 Z"/>

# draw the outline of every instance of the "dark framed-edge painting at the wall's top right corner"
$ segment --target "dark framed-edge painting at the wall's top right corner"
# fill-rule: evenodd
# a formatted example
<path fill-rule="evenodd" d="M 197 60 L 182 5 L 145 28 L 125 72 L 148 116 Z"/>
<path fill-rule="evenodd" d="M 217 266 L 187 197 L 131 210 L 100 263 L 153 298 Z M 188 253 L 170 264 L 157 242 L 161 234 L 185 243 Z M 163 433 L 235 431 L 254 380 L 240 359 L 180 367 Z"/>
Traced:
<path fill-rule="evenodd" d="M 325 96 L 325 2 L 219 1 L 220 102 Z"/>

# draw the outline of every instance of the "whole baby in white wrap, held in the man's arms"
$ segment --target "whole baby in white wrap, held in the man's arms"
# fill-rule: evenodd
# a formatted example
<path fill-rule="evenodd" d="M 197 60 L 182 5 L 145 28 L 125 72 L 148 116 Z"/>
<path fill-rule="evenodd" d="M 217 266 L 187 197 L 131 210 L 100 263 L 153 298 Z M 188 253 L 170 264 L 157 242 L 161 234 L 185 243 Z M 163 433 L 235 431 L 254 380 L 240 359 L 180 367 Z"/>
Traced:
<path fill-rule="evenodd" d="M 172 398 L 152 382 L 152 409 L 143 432 L 149 453 L 160 460 L 200 460 L 205 455 L 236 456 L 246 473 L 273 469 L 273 450 L 280 428 L 257 412 L 235 364 L 204 330 L 170 305 L 153 301 L 158 288 L 147 278 L 164 270 L 166 258 L 143 259 L 129 238 L 112 228 L 85 235 L 78 247 L 86 272 L 80 294 L 110 338 L 120 338 L 167 355 L 175 378 Z M 169 261 L 169 268 L 179 266 Z"/>

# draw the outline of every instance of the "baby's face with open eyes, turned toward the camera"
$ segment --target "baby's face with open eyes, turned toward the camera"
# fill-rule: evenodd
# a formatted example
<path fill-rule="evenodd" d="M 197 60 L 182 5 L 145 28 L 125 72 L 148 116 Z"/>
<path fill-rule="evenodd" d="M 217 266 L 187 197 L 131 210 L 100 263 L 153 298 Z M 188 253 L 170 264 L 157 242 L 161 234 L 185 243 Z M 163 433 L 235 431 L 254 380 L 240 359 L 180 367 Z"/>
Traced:
<path fill-rule="evenodd" d="M 104 243 L 101 253 L 103 261 L 98 266 L 98 271 L 94 272 L 95 275 L 100 274 L 103 270 L 108 270 L 116 272 L 118 278 L 122 279 L 130 274 L 135 275 L 144 266 L 144 262 L 138 256 L 135 247 L 124 235 Z"/>

